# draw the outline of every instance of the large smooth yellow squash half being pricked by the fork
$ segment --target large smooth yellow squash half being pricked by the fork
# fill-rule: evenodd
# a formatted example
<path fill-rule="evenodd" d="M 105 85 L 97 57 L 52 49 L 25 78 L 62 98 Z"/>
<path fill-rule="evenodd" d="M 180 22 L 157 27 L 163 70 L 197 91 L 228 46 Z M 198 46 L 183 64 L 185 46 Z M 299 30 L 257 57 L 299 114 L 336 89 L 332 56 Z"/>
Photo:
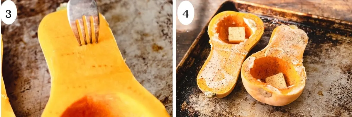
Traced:
<path fill-rule="evenodd" d="M 51 76 L 42 117 L 169 117 L 134 78 L 101 14 L 99 33 L 98 43 L 79 46 L 65 9 L 40 22 L 38 39 Z"/>

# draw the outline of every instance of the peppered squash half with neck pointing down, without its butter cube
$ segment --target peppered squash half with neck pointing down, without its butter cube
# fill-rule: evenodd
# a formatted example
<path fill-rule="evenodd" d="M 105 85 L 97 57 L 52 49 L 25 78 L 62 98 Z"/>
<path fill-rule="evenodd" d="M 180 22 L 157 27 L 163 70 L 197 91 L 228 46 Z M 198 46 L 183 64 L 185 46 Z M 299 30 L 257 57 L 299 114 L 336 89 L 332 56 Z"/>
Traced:
<path fill-rule="evenodd" d="M 245 40 L 239 44 L 228 41 L 229 27 L 244 27 Z M 264 32 L 263 21 L 256 15 L 224 11 L 209 22 L 211 50 L 197 76 L 199 89 L 208 97 L 222 98 L 234 88 L 247 53 Z"/>

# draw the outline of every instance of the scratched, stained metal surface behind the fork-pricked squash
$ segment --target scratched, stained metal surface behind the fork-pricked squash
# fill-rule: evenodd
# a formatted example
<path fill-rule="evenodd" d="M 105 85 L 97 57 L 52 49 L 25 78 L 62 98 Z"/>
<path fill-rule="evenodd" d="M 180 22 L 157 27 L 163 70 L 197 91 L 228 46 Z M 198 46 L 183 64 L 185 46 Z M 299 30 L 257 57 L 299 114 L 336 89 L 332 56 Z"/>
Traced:
<path fill-rule="evenodd" d="M 1 0 L 2 2 L 4 0 Z M 17 20 L 2 23 L 3 77 L 17 117 L 39 117 L 50 92 L 50 74 L 38 43 L 42 18 L 68 0 L 14 0 Z M 172 1 L 97 0 L 136 79 L 172 115 Z"/>

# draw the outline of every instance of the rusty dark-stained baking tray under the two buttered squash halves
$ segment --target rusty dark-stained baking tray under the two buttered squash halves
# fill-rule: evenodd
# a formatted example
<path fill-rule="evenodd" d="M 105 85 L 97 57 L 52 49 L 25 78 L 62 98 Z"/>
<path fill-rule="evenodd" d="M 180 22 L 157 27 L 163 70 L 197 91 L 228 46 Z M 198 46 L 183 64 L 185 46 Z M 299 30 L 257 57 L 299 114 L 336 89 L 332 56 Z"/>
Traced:
<path fill-rule="evenodd" d="M 262 50 L 275 27 L 297 25 L 309 37 L 303 65 L 307 81 L 302 95 L 285 106 L 258 102 L 238 78 L 225 98 L 206 97 L 196 77 L 209 55 L 207 26 L 195 39 L 176 68 L 177 117 L 351 117 L 352 116 L 352 23 L 315 15 L 286 11 L 247 2 L 227 1 L 218 11 L 249 12 L 264 22 L 265 31 L 249 55 Z"/>

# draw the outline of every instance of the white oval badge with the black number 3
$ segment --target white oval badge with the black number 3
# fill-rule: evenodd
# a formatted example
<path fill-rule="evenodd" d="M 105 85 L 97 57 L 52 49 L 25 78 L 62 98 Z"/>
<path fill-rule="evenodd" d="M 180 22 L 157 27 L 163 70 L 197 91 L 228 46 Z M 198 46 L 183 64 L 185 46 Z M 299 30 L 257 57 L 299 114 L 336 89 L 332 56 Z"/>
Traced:
<path fill-rule="evenodd" d="M 12 24 L 17 17 L 17 7 L 11 0 L 6 0 L 0 8 L 0 17 L 2 22 L 9 25 Z"/>

